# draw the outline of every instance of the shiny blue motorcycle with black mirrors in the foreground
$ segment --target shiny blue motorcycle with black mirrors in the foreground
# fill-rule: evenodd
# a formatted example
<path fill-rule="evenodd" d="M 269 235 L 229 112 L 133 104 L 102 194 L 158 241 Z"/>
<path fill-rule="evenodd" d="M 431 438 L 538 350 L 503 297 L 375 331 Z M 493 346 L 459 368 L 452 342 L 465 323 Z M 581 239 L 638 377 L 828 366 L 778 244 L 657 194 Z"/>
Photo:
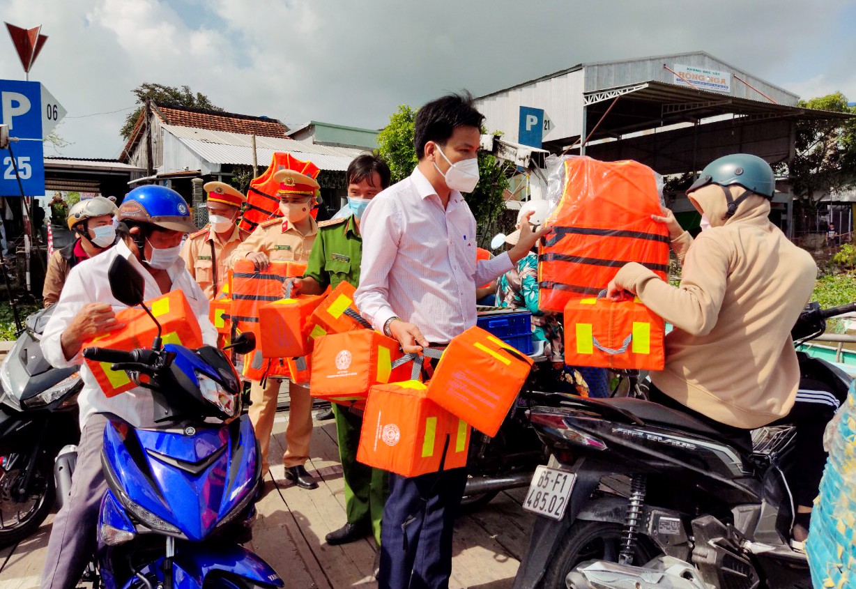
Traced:
<path fill-rule="evenodd" d="M 116 299 L 149 312 L 127 260 L 114 260 L 109 273 Z M 235 367 L 218 348 L 162 345 L 159 330 L 152 348 L 83 352 L 151 390 L 158 424 L 114 418 L 104 430 L 98 576 L 107 589 L 281 587 L 240 544 L 251 537 L 262 479 Z M 255 341 L 243 336 L 231 347 L 246 354 Z"/>

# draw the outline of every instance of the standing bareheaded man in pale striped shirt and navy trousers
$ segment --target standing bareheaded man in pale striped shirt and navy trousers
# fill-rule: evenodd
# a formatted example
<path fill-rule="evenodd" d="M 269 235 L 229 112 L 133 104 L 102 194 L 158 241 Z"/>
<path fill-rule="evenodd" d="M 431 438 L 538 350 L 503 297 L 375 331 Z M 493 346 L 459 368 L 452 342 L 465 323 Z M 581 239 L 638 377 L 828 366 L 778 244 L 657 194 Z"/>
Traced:
<path fill-rule="evenodd" d="M 455 94 L 416 115 L 413 174 L 377 194 L 364 213 L 360 312 L 405 352 L 445 345 L 476 324 L 476 286 L 511 270 L 548 229 L 533 233 L 530 212 L 516 246 L 476 259 L 476 220 L 461 192 L 479 181 L 479 127 L 472 97 Z M 467 469 L 419 477 L 389 475 L 383 510 L 379 589 L 445 589 L 452 532 Z"/>

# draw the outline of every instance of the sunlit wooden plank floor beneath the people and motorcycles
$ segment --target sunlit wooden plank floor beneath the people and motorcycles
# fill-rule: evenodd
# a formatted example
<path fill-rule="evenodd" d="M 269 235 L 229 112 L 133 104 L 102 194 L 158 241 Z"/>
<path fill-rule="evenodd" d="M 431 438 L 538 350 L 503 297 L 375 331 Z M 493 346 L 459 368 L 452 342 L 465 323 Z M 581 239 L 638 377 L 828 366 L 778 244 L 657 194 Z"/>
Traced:
<path fill-rule="evenodd" d="M 282 575 L 287 589 L 374 589 L 374 540 L 330 546 L 324 536 L 345 522 L 342 466 L 336 425 L 315 422 L 306 470 L 319 488 L 305 491 L 284 478 L 282 453 L 288 413 L 278 413 L 270 444 L 270 475 L 257 504 L 252 548 Z M 451 589 L 506 589 L 526 551 L 532 516 L 520 509 L 525 489 L 500 493 L 486 508 L 459 517 L 455 526 Z M 0 588 L 39 586 L 51 518 L 31 538 L 0 550 Z"/>

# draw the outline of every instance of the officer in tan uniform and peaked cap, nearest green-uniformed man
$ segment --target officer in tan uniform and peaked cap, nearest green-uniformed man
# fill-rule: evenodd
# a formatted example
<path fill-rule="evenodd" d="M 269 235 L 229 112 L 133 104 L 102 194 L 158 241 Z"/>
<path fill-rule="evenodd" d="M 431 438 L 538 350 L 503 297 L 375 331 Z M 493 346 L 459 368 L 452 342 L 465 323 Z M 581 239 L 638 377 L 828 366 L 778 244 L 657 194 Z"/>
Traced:
<path fill-rule="evenodd" d="M 279 182 L 276 191 L 280 198 L 282 217 L 260 223 L 247 241 L 235 248 L 231 265 L 239 259 L 249 259 L 259 270 L 264 270 L 271 261 L 300 262 L 306 264 L 312 243 L 318 234 L 318 224 L 312 218 L 316 205 L 315 193 L 318 182 L 294 170 L 279 170 L 273 176 Z M 253 381 L 250 386 L 250 420 L 259 438 L 262 454 L 262 473 L 267 473 L 270 432 L 276 417 L 276 397 L 279 381 L 267 379 L 265 386 Z M 312 397 L 306 387 L 291 383 L 288 387 L 290 409 L 285 441 L 288 448 L 282 456 L 285 476 L 304 489 L 315 489 L 318 483 L 303 466 L 309 459 L 309 441 L 312 437 Z"/>

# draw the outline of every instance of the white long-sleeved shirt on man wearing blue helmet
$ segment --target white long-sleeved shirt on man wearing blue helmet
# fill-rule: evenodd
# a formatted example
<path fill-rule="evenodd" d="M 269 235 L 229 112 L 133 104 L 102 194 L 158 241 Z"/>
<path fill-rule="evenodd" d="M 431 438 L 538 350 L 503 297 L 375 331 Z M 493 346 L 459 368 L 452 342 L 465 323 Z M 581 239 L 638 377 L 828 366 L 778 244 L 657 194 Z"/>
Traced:
<path fill-rule="evenodd" d="M 104 391 L 101 390 L 101 386 L 95 380 L 92 371 L 84 363 L 80 352 L 70 360 L 66 360 L 65 354 L 62 353 L 60 336 L 83 306 L 88 303 L 103 302 L 112 306 L 114 311 L 127 308 L 113 296 L 107 277 L 110 264 L 117 256 L 128 259 L 131 265 L 140 272 L 140 276 L 145 279 L 144 298 L 146 300 L 154 299 L 163 294 L 152 274 L 140 264 L 140 261 L 134 256 L 134 253 L 131 253 L 125 242 L 120 240 L 116 246 L 111 247 L 106 252 L 100 253 L 94 258 L 86 259 L 71 269 L 65 285 L 62 287 L 62 294 L 56 302 L 56 308 L 48 324 L 45 325 L 45 332 L 42 335 L 42 354 L 45 354 L 45 359 L 51 363 L 51 366 L 60 368 L 75 364 L 81 365 L 80 376 L 83 378 L 83 390 L 80 391 L 77 400 L 80 407 L 81 430 L 86 424 L 86 419 L 92 413 L 113 413 L 136 427 L 154 425 L 154 404 L 152 403 L 151 391 L 137 387 L 108 398 L 104 396 Z M 208 299 L 205 298 L 199 284 L 187 272 L 181 259 L 169 266 L 167 273 L 172 280 L 172 289 L 183 291 L 193 313 L 199 320 L 202 341 L 216 346 L 217 330 L 214 329 L 208 318 Z"/>

